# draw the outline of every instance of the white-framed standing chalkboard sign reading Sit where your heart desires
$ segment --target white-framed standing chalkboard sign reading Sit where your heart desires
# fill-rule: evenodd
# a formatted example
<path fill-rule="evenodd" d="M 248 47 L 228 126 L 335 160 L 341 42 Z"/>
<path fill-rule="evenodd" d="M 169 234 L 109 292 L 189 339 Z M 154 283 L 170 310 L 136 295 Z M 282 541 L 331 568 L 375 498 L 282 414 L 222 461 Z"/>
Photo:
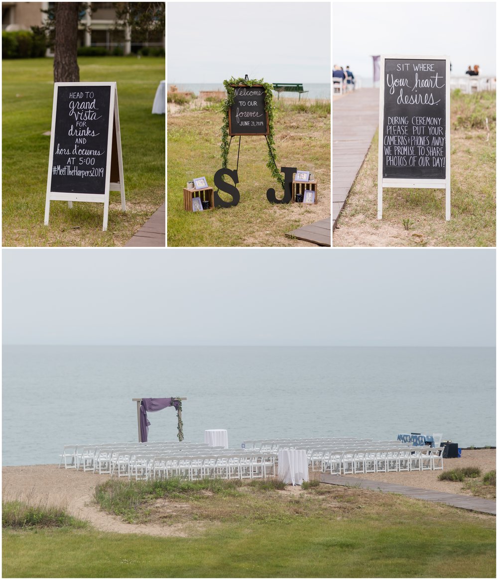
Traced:
<path fill-rule="evenodd" d="M 384 187 L 446 190 L 450 219 L 450 61 L 381 56 L 377 218 Z"/>

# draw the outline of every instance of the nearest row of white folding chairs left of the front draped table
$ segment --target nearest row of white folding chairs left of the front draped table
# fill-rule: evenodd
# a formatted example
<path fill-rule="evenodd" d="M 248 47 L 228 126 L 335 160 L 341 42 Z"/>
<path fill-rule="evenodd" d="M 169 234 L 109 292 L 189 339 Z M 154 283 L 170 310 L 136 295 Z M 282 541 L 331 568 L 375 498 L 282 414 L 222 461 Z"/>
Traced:
<path fill-rule="evenodd" d="M 129 478 L 157 479 L 204 477 L 225 479 L 265 478 L 275 476 L 276 455 L 268 453 L 233 453 L 210 455 L 137 455 L 129 468 Z"/>

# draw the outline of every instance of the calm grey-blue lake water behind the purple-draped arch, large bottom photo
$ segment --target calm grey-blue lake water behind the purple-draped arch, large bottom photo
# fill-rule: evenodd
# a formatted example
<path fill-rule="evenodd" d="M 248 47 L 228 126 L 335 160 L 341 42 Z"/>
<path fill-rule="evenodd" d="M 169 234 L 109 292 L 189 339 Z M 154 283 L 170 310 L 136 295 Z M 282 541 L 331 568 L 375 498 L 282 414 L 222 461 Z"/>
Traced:
<path fill-rule="evenodd" d="M 443 433 L 496 444 L 494 349 L 3 347 L 3 465 L 56 463 L 64 444 L 136 441 L 139 397 L 187 397 L 185 440 Z M 174 408 L 149 440 L 176 438 Z"/>

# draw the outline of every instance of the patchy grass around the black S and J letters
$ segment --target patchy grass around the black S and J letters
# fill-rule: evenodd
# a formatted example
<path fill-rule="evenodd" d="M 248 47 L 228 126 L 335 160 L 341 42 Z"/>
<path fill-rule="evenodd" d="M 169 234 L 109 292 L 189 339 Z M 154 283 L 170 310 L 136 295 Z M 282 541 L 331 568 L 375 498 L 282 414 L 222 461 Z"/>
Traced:
<path fill-rule="evenodd" d="M 184 106 L 168 114 L 168 246 L 299 246 L 308 242 L 286 237 L 286 232 L 330 216 L 330 102 L 304 99 L 275 101 L 275 144 L 277 167 L 311 171 L 318 180 L 317 204 L 270 204 L 266 191 L 282 187 L 273 179 L 266 163 L 268 147 L 264 136 L 240 140 L 238 166 L 240 202 L 228 209 L 186 212 L 183 187 L 186 172 L 206 177 L 214 186 L 221 168 L 223 114 L 216 103 Z M 195 102 L 194 102 L 195 103 Z M 239 138 L 230 146 L 230 169 L 237 166 Z M 232 183 L 228 179 L 228 183 Z M 216 190 L 216 187 L 214 188 Z M 229 194 L 219 195 L 231 201 Z"/>

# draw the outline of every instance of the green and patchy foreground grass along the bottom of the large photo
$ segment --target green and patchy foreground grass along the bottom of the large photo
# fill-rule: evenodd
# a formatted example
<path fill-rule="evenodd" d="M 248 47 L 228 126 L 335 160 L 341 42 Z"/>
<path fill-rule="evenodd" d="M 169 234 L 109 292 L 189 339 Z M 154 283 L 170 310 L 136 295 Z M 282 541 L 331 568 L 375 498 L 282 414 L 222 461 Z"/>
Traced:
<path fill-rule="evenodd" d="M 474 577 L 496 575 L 495 519 L 395 494 L 320 485 L 305 496 L 182 496 L 185 536 L 3 531 L 5 577 Z M 197 495 L 197 494 L 194 494 Z M 246 500 L 244 501 L 244 496 Z M 214 501 L 213 501 L 214 500 Z M 262 501 L 268 503 L 259 503 Z M 209 504 L 214 507 L 209 507 Z M 187 512 L 185 506 L 190 506 Z M 268 511 L 270 510 L 270 511 Z M 164 509 L 163 509 L 164 513 Z M 181 520 L 189 516 L 182 516 Z M 172 518 L 171 524 L 178 519 Z M 168 521 L 166 521 L 166 525 Z"/>

